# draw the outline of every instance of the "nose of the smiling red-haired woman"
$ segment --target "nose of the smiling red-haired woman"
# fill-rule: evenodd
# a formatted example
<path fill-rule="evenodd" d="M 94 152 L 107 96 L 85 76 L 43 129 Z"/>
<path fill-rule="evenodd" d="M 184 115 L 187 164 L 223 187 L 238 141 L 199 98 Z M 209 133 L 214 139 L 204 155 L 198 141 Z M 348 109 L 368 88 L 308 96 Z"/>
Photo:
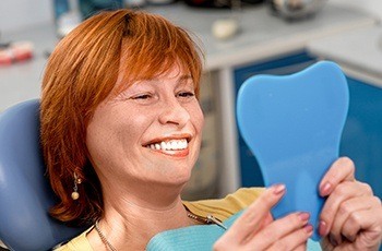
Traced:
<path fill-rule="evenodd" d="M 159 122 L 162 124 L 176 124 L 177 127 L 182 128 L 191 118 L 189 111 L 176 97 L 168 98 L 162 104 L 162 106 L 163 110 L 159 115 Z"/>

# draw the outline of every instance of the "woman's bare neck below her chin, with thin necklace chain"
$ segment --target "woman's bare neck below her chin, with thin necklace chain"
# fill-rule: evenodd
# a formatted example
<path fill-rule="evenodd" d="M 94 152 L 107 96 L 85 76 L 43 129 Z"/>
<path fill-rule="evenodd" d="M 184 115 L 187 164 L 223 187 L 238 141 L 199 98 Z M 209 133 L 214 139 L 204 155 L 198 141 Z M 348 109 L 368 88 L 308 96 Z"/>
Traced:
<path fill-rule="evenodd" d="M 139 191 L 141 193 L 142 188 Z M 144 250 L 156 234 L 192 224 L 179 192 L 174 191 L 174 188 L 156 187 L 155 191 L 143 191 L 135 196 L 133 191 L 118 195 L 109 195 L 105 191 L 105 214 L 99 220 L 99 228 L 117 250 Z M 105 248 L 95 230 L 87 238 L 95 250 Z"/>

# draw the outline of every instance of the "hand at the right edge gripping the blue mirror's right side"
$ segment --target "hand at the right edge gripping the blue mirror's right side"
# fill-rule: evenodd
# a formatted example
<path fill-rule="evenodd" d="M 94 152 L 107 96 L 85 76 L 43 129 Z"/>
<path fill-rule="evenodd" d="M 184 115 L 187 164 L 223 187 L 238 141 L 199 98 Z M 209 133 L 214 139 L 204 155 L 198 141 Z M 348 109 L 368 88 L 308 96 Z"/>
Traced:
<path fill-rule="evenodd" d="M 354 163 L 338 158 L 320 183 L 327 200 L 320 215 L 324 250 L 379 250 L 382 239 L 381 200 L 370 186 L 355 179 Z"/>

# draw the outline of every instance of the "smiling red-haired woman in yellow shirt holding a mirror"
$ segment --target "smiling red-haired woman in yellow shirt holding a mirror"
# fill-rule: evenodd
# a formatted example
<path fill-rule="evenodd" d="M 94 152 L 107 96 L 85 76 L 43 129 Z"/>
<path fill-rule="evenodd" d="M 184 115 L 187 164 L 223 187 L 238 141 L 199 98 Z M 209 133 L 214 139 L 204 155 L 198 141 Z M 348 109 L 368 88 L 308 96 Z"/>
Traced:
<path fill-rule="evenodd" d="M 160 231 L 223 220 L 252 201 L 216 250 L 306 249 L 309 214 L 277 220 L 270 214 L 283 184 L 181 201 L 201 144 L 201 72 L 190 36 L 144 12 L 95 15 L 60 41 L 46 68 L 40 111 L 45 160 L 61 199 L 50 213 L 94 227 L 59 249 L 144 250 Z M 320 191 L 329 196 L 320 224 L 324 249 L 377 250 L 381 202 L 355 180 L 353 163 L 338 159 Z M 215 218 L 205 220 L 207 214 Z"/>

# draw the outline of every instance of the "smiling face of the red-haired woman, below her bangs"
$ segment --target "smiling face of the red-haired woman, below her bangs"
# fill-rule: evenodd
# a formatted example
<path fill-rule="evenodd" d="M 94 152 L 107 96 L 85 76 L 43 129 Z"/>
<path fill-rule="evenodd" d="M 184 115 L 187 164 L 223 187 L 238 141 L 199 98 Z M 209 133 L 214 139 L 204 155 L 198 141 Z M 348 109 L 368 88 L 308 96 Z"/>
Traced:
<path fill-rule="evenodd" d="M 102 103 L 86 144 L 102 182 L 183 184 L 199 156 L 203 123 L 191 76 L 174 67 Z"/>

